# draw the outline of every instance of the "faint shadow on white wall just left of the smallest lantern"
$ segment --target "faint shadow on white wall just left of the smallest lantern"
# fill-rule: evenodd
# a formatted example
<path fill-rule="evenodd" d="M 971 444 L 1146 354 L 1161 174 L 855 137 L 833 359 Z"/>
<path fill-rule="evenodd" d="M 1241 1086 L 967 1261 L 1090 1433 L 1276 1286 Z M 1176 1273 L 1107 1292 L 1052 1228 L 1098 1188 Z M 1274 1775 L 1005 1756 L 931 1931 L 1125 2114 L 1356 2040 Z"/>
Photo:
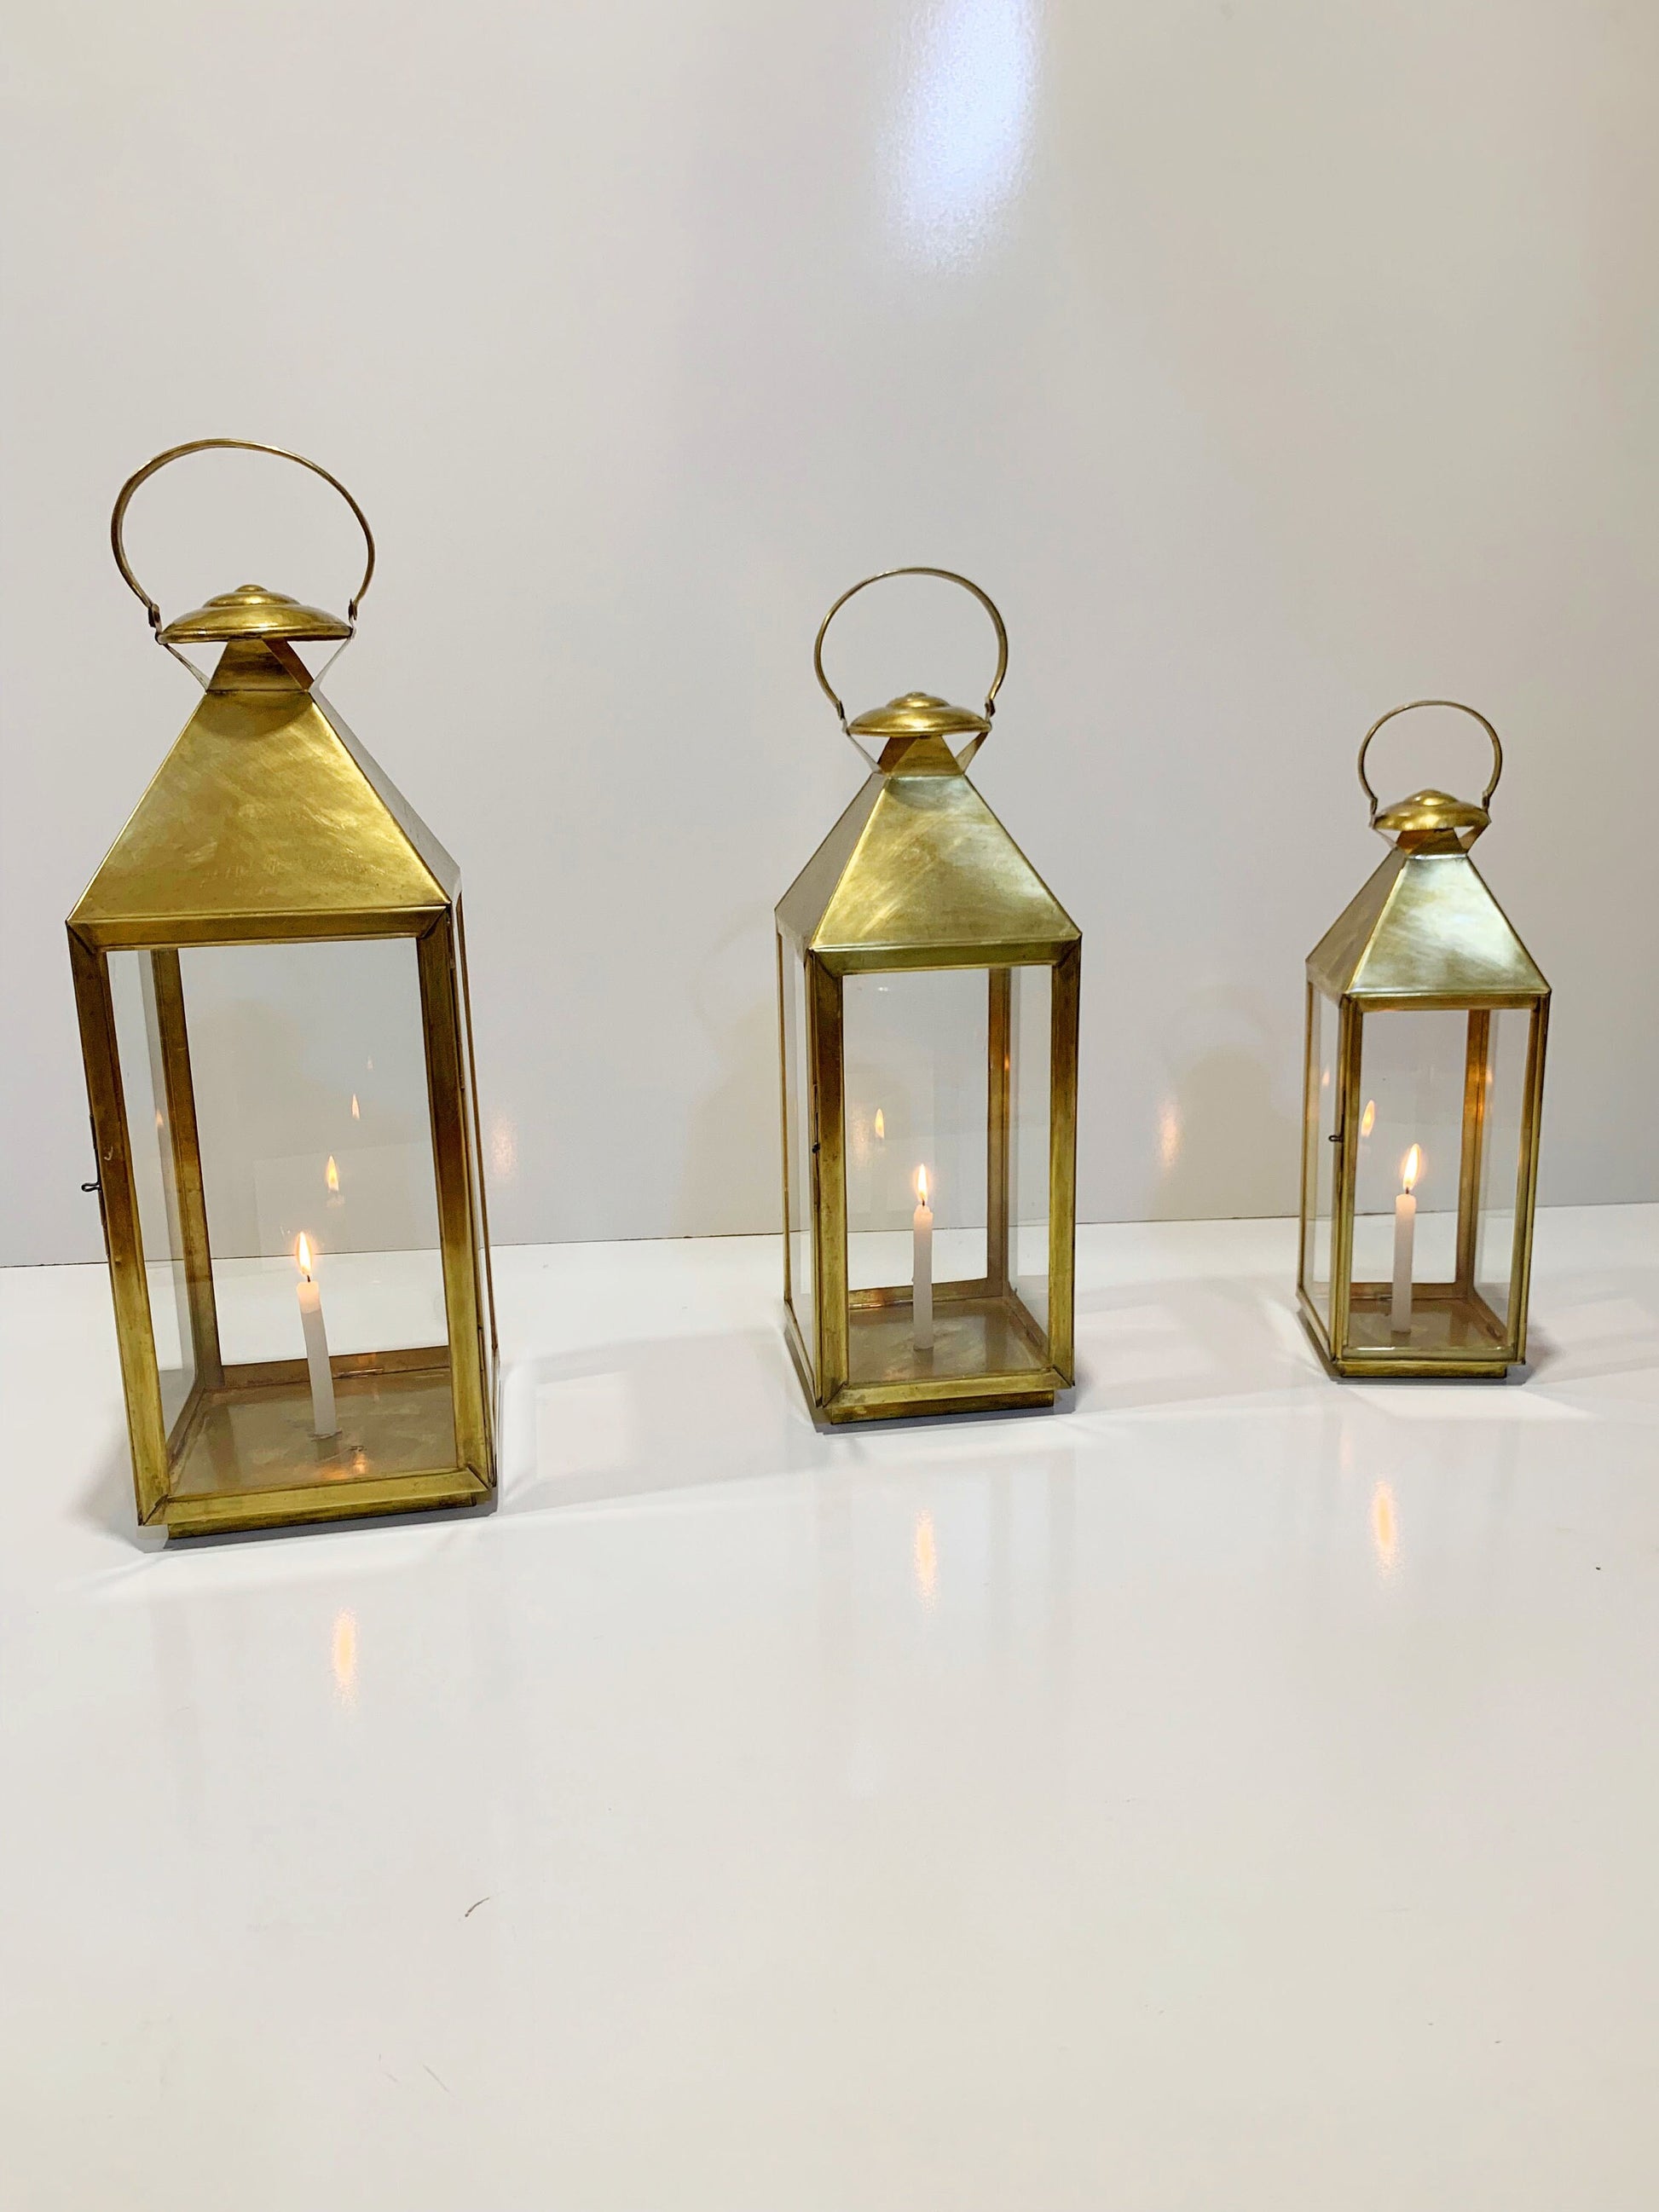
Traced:
<path fill-rule="evenodd" d="M 1225 991 L 1188 1002 L 1194 1035 L 1157 1119 L 1152 1221 L 1294 1214 L 1301 1190 L 1301 1057 L 1261 1006 Z M 1197 1042 L 1203 1037 L 1206 1042 Z"/>

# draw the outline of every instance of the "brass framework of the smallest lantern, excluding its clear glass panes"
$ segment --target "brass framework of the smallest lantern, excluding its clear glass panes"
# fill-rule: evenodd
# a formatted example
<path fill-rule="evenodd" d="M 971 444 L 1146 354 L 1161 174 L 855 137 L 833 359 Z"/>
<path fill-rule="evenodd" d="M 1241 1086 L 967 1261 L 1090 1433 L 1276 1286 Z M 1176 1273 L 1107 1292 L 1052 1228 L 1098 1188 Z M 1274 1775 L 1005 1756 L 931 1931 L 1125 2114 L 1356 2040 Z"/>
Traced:
<path fill-rule="evenodd" d="M 1316 1203 L 1305 1148 L 1296 1265 L 1298 1307 L 1307 1334 L 1332 1374 L 1378 1378 L 1502 1376 L 1526 1358 L 1548 984 L 1469 858 L 1469 847 L 1489 823 L 1486 807 L 1504 770 L 1498 730 L 1475 708 L 1455 699 L 1418 699 L 1411 706 L 1451 706 L 1473 714 L 1491 739 L 1493 770 L 1478 805 L 1447 792 L 1425 790 L 1378 810 L 1376 792 L 1365 776 L 1365 754 L 1383 723 L 1411 708 L 1391 708 L 1389 714 L 1371 723 L 1360 743 L 1358 779 L 1369 801 L 1371 825 L 1396 843 L 1307 958 L 1303 1115 L 1305 1126 L 1314 1126 L 1325 1141 L 1336 1146 L 1329 1325 L 1318 1312 L 1305 1274 L 1310 1208 Z M 1316 991 L 1334 1000 L 1338 1009 L 1336 1093 L 1327 1102 L 1318 1095 L 1318 1068 L 1312 1051 Z M 1458 1168 L 1458 1274 L 1451 1283 L 1413 1283 L 1411 1343 L 1402 1345 L 1389 1327 L 1389 1285 L 1352 1281 L 1363 1029 L 1365 1020 L 1374 1015 L 1429 1009 L 1458 1011 L 1469 1018 Z M 1491 1015 L 1502 1009 L 1531 1015 L 1506 1323 L 1475 1290 L 1486 1091 L 1493 1053 Z"/>

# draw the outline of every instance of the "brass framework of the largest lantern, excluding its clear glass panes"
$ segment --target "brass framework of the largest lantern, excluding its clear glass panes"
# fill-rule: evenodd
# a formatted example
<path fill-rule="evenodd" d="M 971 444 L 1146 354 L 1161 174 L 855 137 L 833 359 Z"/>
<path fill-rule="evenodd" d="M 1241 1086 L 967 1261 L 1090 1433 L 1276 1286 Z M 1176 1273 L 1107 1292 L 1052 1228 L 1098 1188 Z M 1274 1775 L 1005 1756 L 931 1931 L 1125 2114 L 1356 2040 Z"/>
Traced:
<path fill-rule="evenodd" d="M 115 502 L 115 560 L 157 635 L 159 608 L 122 546 L 126 504 L 168 460 L 221 445 L 243 440 L 175 447 L 139 469 Z M 495 1482 L 498 1354 L 460 876 L 292 650 L 296 637 L 349 637 L 374 575 L 374 538 L 356 500 L 325 469 L 303 467 L 334 484 L 363 524 L 367 568 L 347 619 L 243 586 L 166 626 L 168 646 L 223 639 L 223 653 L 69 918 L 137 1509 L 139 1520 L 179 1533 L 476 1504 Z M 365 936 L 407 936 L 416 947 L 449 1340 L 420 1354 L 336 1354 L 336 1400 L 349 1418 L 345 1442 L 319 1451 L 303 1360 L 230 1369 L 219 1360 L 179 947 Z M 108 953 L 117 947 L 150 956 L 166 1082 L 195 1356 L 195 1387 L 173 1436 L 161 1418 L 115 1046 Z"/>

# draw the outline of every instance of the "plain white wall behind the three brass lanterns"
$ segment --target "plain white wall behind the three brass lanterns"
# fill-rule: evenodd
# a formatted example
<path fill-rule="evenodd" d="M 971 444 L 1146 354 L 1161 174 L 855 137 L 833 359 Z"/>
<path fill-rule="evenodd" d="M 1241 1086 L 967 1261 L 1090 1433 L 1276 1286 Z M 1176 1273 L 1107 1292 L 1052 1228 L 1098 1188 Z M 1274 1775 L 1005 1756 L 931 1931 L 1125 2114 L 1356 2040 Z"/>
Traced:
<path fill-rule="evenodd" d="M 894 562 L 1009 619 L 1086 1219 L 1294 1210 L 1354 745 L 1425 690 L 1511 748 L 1544 1194 L 1657 1197 L 1657 64 L 1639 0 L 13 13 L 0 1259 L 97 1250 L 62 916 L 192 703 L 104 531 L 206 434 L 380 535 L 330 695 L 467 872 L 500 1237 L 776 1225 L 770 907 L 858 774 L 807 657 Z M 290 473 L 139 495 L 168 611 L 343 604 Z M 967 602 L 874 597 L 854 706 L 975 692 Z"/>

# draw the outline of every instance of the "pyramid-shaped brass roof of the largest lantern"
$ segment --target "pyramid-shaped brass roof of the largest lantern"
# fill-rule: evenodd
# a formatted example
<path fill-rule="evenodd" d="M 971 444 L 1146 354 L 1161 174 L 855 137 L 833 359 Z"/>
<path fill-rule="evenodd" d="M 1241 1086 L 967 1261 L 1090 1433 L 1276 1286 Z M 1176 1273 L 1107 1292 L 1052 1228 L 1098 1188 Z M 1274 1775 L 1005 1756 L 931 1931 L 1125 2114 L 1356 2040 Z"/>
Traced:
<path fill-rule="evenodd" d="M 285 644 L 230 644 L 69 916 L 95 947 L 418 931 L 456 863 Z"/>

